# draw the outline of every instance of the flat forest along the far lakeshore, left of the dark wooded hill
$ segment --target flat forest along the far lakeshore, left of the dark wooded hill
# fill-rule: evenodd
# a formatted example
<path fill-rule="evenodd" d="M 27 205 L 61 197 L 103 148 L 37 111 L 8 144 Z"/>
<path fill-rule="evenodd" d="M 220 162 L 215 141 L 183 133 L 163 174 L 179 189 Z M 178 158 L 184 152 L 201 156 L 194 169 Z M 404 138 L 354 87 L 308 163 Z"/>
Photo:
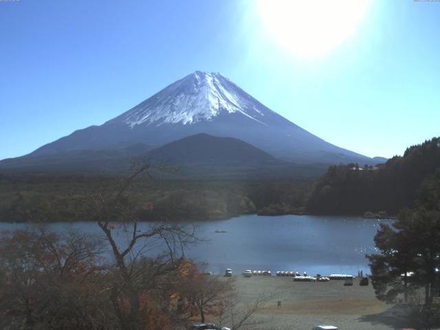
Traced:
<path fill-rule="evenodd" d="M 118 177 L 0 176 L 0 221 L 94 220 L 78 201 L 117 186 Z M 311 181 L 140 179 L 131 187 L 143 221 L 202 221 L 241 214 L 304 212 Z"/>

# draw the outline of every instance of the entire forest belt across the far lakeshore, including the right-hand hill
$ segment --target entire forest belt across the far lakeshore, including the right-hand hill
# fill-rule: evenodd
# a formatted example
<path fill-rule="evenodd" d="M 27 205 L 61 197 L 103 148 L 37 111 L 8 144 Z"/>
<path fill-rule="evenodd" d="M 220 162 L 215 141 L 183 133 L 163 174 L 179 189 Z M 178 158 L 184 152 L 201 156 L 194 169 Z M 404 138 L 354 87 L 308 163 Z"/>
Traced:
<path fill-rule="evenodd" d="M 440 167 L 440 138 L 410 146 L 385 164 L 330 166 L 313 179 L 140 179 L 131 188 L 143 221 L 203 221 L 241 214 L 355 214 L 386 217 L 412 208 Z M 114 176 L 0 174 L 0 221 L 93 220 L 78 200 L 120 181 Z"/>

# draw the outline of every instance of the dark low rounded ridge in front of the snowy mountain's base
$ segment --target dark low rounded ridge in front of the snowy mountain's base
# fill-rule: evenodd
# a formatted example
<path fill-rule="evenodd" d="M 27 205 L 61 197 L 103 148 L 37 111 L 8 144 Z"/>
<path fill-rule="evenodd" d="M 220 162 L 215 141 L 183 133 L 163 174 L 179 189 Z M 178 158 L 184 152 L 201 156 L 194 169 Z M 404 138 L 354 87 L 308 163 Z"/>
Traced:
<path fill-rule="evenodd" d="M 201 133 L 152 150 L 145 144 L 133 144 L 120 149 L 82 149 L 5 159 L 0 162 L 0 173 L 118 175 L 126 173 L 133 161 L 148 162 L 156 175 L 168 179 L 304 179 L 317 178 L 327 169 L 317 164 L 284 162 L 233 137 Z M 157 172 L 158 168 L 164 168 L 164 172 Z"/>

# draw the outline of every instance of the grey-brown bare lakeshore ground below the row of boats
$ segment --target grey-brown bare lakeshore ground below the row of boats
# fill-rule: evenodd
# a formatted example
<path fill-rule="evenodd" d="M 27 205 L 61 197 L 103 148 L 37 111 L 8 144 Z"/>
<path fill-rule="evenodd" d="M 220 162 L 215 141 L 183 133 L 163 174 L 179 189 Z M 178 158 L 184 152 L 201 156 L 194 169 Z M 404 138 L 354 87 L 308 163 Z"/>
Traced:
<path fill-rule="evenodd" d="M 266 322 L 259 329 L 311 330 L 315 325 L 333 325 L 340 330 L 391 330 L 409 327 L 382 315 L 390 305 L 375 298 L 371 285 L 353 286 L 344 281 L 327 283 L 294 282 L 284 276 L 233 276 L 236 294 L 243 302 L 252 302 L 261 292 L 279 292 L 256 318 Z M 281 301 L 281 307 L 278 307 Z"/>

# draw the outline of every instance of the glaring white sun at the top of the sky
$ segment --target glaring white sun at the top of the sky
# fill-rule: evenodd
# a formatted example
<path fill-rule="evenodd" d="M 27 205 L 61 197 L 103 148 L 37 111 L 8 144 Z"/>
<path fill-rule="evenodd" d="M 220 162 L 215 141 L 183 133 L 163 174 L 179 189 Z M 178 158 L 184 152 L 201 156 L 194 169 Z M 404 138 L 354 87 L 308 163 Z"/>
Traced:
<path fill-rule="evenodd" d="M 355 32 L 369 0 L 259 0 L 270 34 L 301 57 L 325 54 Z"/>

